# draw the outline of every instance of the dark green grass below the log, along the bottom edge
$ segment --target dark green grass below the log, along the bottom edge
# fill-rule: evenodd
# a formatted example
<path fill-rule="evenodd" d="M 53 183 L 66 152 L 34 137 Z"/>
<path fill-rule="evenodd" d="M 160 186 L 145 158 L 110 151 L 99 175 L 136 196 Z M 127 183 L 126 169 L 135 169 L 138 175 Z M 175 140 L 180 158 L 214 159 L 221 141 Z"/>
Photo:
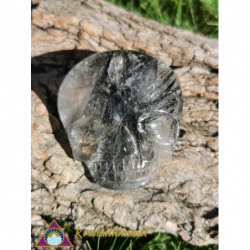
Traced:
<path fill-rule="evenodd" d="M 40 216 L 49 224 L 54 218 L 48 215 Z M 56 220 L 58 225 L 68 233 L 70 240 L 75 238 L 76 230 L 67 221 Z M 219 250 L 218 245 L 197 247 L 181 240 L 180 237 L 168 233 L 148 234 L 147 237 L 88 237 L 82 239 L 89 250 Z M 73 242 L 72 242 L 73 243 Z M 74 244 L 73 244 L 74 245 Z"/>

